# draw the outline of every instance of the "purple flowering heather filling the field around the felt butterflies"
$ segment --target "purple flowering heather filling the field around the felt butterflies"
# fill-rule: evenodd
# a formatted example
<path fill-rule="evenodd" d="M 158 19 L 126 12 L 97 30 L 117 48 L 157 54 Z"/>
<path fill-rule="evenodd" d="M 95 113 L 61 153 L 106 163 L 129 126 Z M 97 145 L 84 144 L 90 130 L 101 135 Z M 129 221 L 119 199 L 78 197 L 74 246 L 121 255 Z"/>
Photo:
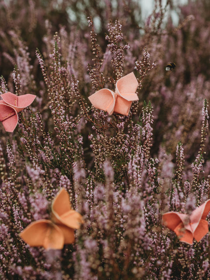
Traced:
<path fill-rule="evenodd" d="M 210 279 L 209 233 L 190 245 L 162 225 L 209 199 L 209 2 L 155 1 L 145 21 L 138 1 L 70 2 L 1 1 L 1 94 L 36 99 L 14 132 L 0 123 L 0 279 Z M 131 72 L 127 116 L 91 105 Z M 26 244 L 60 188 L 75 243 Z"/>

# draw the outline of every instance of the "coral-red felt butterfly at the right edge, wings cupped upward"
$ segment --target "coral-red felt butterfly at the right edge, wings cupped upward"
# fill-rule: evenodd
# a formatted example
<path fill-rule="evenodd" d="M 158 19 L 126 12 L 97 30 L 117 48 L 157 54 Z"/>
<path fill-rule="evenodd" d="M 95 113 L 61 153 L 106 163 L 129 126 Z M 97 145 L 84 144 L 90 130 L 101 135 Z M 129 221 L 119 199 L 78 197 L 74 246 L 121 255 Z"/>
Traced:
<path fill-rule="evenodd" d="M 205 220 L 210 211 L 210 199 L 192 211 L 191 215 L 168 212 L 163 214 L 162 223 L 173 230 L 180 241 L 192 244 L 193 238 L 199 242 L 209 231 Z"/>

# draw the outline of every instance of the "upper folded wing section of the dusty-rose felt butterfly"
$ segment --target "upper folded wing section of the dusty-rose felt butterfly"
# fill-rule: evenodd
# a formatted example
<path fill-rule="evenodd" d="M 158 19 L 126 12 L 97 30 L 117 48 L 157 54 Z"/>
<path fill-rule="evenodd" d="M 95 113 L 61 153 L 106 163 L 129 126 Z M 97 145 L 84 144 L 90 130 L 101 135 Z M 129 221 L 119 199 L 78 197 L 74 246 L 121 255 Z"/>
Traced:
<path fill-rule="evenodd" d="M 25 94 L 17 96 L 13 94 L 12 92 L 6 92 L 1 95 L 3 101 L 15 108 L 17 113 L 22 111 L 24 108 L 28 107 L 36 98 L 36 95 L 33 94 Z"/>

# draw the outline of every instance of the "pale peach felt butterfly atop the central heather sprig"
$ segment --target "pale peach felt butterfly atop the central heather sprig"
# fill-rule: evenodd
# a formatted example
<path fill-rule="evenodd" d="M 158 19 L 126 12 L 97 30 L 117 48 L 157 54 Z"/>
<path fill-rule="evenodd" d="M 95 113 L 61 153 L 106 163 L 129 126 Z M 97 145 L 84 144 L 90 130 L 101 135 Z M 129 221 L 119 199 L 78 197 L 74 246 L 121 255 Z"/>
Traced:
<path fill-rule="evenodd" d="M 127 116 L 132 101 L 139 100 L 136 94 L 138 85 L 132 72 L 117 81 L 115 92 L 103 88 L 88 98 L 95 108 L 107 111 L 109 115 L 115 112 Z"/>

